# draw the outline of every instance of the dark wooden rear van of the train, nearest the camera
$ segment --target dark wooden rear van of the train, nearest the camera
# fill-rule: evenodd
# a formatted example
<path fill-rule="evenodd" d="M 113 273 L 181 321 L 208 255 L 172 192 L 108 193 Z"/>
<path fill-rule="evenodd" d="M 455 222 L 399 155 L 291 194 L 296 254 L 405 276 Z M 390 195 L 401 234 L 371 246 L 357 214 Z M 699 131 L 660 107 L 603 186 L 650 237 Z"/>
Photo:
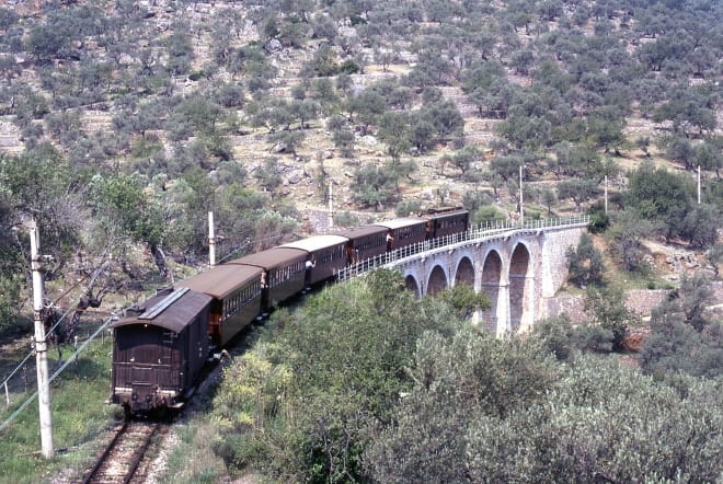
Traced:
<path fill-rule="evenodd" d="M 210 301 L 187 288 L 167 290 L 111 324 L 113 403 L 130 413 L 183 405 L 208 356 Z"/>

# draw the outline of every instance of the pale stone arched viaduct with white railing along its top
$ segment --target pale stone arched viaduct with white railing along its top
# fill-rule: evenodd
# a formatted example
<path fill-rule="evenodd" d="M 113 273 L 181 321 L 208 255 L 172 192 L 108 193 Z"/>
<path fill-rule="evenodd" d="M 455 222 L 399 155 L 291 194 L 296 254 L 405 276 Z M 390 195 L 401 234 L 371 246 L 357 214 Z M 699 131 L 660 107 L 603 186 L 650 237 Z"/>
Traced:
<path fill-rule="evenodd" d="M 377 267 L 398 269 L 417 297 L 457 284 L 484 291 L 492 307 L 477 316 L 497 335 L 523 332 L 548 316 L 567 277 L 566 251 L 576 246 L 589 217 L 489 222 L 467 232 L 422 242 L 359 262 L 338 274 L 345 280 Z"/>

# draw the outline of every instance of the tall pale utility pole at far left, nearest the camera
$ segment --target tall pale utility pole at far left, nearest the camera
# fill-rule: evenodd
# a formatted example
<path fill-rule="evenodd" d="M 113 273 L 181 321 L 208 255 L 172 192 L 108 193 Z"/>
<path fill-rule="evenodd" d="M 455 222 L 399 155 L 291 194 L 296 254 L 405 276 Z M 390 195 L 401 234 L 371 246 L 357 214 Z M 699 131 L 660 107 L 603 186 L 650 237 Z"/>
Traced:
<path fill-rule="evenodd" d="M 41 413 L 41 443 L 43 456 L 51 459 L 53 414 L 50 413 L 50 384 L 48 378 L 48 345 L 43 322 L 43 274 L 41 273 L 41 238 L 35 220 L 30 226 L 31 269 L 33 272 L 33 319 L 35 321 L 35 357 L 37 361 L 37 403 Z"/>

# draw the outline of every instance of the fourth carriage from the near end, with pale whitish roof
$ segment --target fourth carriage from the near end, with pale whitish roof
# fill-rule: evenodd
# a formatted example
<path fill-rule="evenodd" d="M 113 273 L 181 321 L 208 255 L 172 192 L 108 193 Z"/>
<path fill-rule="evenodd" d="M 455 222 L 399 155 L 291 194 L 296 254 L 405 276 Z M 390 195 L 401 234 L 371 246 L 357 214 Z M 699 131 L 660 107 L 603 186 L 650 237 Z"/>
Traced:
<path fill-rule="evenodd" d="M 311 285 L 330 279 L 346 267 L 347 242 L 348 239 L 341 235 L 314 235 L 280 247 L 298 249 L 307 253 L 306 261 L 311 261 L 313 267 L 308 268 L 306 281 Z"/>

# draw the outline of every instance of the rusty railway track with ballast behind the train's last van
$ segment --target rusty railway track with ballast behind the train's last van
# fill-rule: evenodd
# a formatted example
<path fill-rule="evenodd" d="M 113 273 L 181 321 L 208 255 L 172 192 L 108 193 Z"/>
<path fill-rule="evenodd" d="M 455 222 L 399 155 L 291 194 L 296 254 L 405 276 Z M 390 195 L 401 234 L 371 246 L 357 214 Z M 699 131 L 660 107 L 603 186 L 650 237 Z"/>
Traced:
<path fill-rule="evenodd" d="M 82 480 L 83 484 L 144 482 L 137 475 L 151 439 L 161 428 L 157 422 L 126 420 L 97 462 Z"/>

